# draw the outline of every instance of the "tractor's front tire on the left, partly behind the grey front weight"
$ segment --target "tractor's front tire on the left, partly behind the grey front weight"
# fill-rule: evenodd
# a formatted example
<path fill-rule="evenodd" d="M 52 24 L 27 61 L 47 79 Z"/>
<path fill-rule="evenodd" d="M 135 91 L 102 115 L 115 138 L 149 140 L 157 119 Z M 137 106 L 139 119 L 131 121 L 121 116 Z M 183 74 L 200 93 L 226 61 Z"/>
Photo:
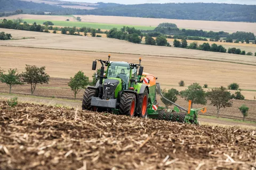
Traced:
<path fill-rule="evenodd" d="M 87 111 L 97 111 L 96 107 L 91 106 L 92 97 L 98 96 L 98 90 L 97 89 L 85 89 L 84 96 L 83 96 L 83 102 L 82 102 L 82 109 Z"/>

